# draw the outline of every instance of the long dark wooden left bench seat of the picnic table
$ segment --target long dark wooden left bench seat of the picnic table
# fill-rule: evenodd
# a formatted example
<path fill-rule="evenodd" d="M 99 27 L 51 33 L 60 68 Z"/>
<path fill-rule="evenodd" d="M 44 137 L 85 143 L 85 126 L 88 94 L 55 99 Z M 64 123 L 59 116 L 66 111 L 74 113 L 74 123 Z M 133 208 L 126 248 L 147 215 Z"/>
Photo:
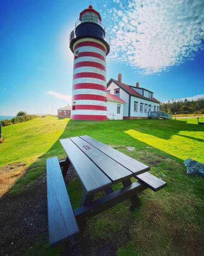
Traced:
<path fill-rule="evenodd" d="M 80 235 L 57 157 L 47 159 L 47 210 L 50 247 Z"/>

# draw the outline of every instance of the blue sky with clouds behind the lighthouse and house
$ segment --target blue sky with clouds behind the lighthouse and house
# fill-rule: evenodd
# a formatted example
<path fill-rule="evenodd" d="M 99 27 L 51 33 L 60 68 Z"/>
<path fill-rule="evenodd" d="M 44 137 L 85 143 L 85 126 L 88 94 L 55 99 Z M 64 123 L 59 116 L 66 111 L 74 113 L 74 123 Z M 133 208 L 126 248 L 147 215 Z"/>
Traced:
<path fill-rule="evenodd" d="M 68 38 L 90 1 L 1 0 L 0 115 L 70 102 Z M 160 101 L 204 94 L 203 0 L 92 0 L 111 39 L 107 81 L 139 82 Z"/>

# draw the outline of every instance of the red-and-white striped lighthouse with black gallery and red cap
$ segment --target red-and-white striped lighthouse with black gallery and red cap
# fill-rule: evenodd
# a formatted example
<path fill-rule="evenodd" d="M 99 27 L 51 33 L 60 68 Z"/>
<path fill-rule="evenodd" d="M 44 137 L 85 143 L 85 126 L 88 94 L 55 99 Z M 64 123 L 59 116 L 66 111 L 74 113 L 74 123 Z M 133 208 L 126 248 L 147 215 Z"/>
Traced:
<path fill-rule="evenodd" d="M 70 33 L 74 54 L 72 120 L 107 120 L 106 56 L 110 51 L 100 13 L 92 5 L 80 13 Z"/>

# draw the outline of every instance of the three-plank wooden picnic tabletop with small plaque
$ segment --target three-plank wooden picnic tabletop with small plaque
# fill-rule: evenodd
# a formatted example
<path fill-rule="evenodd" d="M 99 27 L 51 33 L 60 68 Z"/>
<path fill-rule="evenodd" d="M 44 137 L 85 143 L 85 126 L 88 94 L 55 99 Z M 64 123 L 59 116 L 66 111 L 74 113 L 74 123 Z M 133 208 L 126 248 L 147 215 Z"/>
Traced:
<path fill-rule="evenodd" d="M 87 195 L 104 190 L 112 184 L 124 182 L 131 177 L 137 178 L 137 175 L 150 170 L 146 164 L 87 135 L 61 139 L 60 143 Z"/>

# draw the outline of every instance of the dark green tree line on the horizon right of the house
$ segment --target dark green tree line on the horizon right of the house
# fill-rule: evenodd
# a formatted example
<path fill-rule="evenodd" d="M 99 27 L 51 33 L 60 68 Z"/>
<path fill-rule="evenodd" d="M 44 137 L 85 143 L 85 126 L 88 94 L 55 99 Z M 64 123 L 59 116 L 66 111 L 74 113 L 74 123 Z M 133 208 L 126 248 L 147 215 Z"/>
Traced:
<path fill-rule="evenodd" d="M 160 104 L 160 111 L 169 114 L 204 114 L 204 99 L 192 100 L 187 99 Z"/>

